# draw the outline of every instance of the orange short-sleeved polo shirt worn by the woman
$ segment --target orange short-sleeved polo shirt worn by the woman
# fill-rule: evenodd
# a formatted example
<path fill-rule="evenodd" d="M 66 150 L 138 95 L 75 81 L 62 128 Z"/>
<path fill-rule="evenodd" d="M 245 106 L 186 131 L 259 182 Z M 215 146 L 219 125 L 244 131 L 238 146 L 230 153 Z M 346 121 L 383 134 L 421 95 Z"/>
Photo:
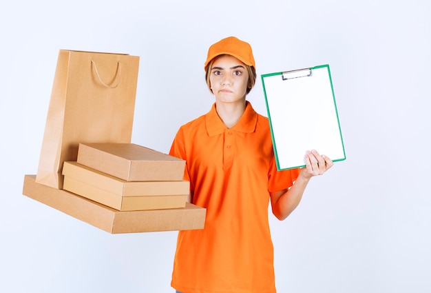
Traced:
<path fill-rule="evenodd" d="M 247 101 L 238 123 L 227 128 L 214 104 L 182 125 L 169 154 L 185 159 L 193 203 L 207 208 L 203 230 L 178 233 L 172 287 L 274 293 L 269 192 L 290 187 L 299 172 L 277 172 L 268 119 Z"/>

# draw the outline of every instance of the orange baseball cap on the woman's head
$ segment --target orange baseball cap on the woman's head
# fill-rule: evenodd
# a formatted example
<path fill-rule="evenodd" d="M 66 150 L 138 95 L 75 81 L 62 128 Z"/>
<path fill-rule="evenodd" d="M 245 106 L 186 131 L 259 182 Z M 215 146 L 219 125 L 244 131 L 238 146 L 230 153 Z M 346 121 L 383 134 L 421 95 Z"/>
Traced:
<path fill-rule="evenodd" d="M 228 54 L 238 58 L 242 63 L 253 66 L 256 69 L 253 51 L 249 43 L 241 41 L 236 37 L 227 37 L 214 43 L 209 47 L 207 61 L 204 64 L 204 70 L 207 70 L 208 63 L 222 54 Z"/>

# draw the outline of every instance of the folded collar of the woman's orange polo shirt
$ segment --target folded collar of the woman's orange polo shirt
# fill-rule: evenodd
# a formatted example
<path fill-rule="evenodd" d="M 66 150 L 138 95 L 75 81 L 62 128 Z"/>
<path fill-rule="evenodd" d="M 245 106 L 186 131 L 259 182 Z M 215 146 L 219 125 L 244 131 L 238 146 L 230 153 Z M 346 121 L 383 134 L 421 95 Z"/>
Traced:
<path fill-rule="evenodd" d="M 251 106 L 249 101 L 246 101 L 246 108 L 242 114 L 240 120 L 233 125 L 232 130 L 251 133 L 256 129 L 257 123 L 257 112 Z M 215 103 L 211 107 L 211 110 L 205 115 L 205 125 L 207 126 L 207 132 L 210 137 L 213 135 L 222 134 L 224 130 L 227 130 L 222 119 L 218 117 L 217 111 L 215 110 Z"/>

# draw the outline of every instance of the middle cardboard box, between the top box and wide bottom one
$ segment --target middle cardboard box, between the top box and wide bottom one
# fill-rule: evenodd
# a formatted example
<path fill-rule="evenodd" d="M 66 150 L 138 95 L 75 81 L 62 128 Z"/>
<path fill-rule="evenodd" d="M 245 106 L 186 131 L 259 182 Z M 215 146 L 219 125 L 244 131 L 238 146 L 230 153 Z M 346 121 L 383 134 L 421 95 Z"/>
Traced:
<path fill-rule="evenodd" d="M 63 165 L 63 189 L 116 210 L 184 208 L 189 181 L 124 181 L 76 162 Z"/>

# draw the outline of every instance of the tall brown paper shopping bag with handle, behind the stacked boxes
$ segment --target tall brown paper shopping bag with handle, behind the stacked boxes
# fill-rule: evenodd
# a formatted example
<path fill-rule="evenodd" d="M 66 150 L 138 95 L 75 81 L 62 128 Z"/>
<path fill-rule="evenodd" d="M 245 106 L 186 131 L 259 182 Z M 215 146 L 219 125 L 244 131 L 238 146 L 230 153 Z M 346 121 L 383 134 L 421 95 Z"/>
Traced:
<path fill-rule="evenodd" d="M 139 57 L 60 50 L 36 182 L 63 188 L 78 143 L 130 143 Z"/>

